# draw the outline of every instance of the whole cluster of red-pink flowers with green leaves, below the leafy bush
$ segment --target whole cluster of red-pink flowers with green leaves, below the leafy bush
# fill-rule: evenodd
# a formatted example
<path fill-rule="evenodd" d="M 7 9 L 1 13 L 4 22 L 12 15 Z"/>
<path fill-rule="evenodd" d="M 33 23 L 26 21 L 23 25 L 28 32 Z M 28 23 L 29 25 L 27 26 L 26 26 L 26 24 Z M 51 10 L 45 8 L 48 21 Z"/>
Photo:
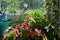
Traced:
<path fill-rule="evenodd" d="M 35 38 L 42 37 L 43 39 L 43 31 L 42 29 L 32 29 L 31 25 L 29 24 L 29 22 L 27 22 L 27 20 L 24 20 L 22 24 L 17 24 L 14 28 L 12 28 L 12 30 L 10 30 L 10 32 L 7 31 L 6 35 L 5 35 L 5 39 L 10 40 L 11 37 L 13 37 L 13 39 L 11 40 L 15 40 L 16 38 L 22 38 L 22 40 L 35 40 Z M 13 35 L 13 36 L 12 36 Z M 37 37 L 36 37 L 37 36 Z"/>

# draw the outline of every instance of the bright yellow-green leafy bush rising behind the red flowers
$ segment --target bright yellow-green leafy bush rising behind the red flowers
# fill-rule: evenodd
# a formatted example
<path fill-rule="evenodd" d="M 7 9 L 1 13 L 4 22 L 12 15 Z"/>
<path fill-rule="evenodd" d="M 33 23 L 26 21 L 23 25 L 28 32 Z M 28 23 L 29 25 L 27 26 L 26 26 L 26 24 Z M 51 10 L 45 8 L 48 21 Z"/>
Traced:
<path fill-rule="evenodd" d="M 34 28 L 43 28 L 47 24 L 46 13 L 41 10 L 36 9 L 32 12 L 29 12 L 27 17 L 32 17 L 36 21 L 36 23 L 31 22 L 31 25 L 35 25 L 33 26 Z"/>

